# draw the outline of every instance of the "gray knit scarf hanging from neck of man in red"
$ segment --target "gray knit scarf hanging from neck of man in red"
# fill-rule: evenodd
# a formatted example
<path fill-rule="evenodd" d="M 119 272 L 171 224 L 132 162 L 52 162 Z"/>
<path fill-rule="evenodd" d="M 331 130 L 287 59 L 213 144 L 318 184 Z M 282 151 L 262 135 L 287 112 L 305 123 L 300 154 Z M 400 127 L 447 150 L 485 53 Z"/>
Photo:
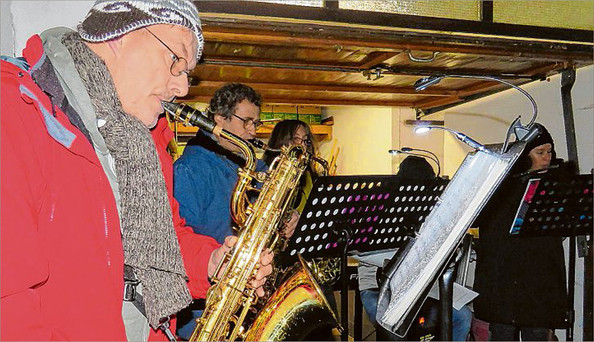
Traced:
<path fill-rule="evenodd" d="M 103 61 L 76 33 L 65 35 L 63 43 L 97 117 L 106 121 L 99 131 L 115 159 L 124 261 L 143 284 L 148 322 L 156 328 L 161 318 L 175 314 L 192 300 L 157 150 L 148 128 L 122 110 Z"/>

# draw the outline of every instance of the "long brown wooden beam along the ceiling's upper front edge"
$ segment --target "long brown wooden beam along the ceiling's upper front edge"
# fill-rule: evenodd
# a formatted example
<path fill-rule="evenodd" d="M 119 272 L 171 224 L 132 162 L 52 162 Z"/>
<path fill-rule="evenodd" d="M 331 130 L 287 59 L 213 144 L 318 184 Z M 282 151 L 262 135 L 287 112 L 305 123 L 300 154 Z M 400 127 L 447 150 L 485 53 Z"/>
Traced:
<path fill-rule="evenodd" d="M 205 19 L 208 21 L 208 19 Z M 215 23 L 204 26 L 204 37 L 209 43 L 226 42 L 267 44 L 278 46 L 304 47 L 361 47 L 380 48 L 393 51 L 436 51 L 471 53 L 485 56 L 510 56 L 526 60 L 575 60 L 592 62 L 592 45 L 555 45 L 535 41 L 509 43 L 475 37 L 472 40 L 455 41 L 438 36 L 402 35 L 398 32 L 382 30 L 361 30 L 350 27 L 312 27 L 312 25 L 292 24 L 279 27 L 279 23 L 249 22 L 238 24 Z"/>

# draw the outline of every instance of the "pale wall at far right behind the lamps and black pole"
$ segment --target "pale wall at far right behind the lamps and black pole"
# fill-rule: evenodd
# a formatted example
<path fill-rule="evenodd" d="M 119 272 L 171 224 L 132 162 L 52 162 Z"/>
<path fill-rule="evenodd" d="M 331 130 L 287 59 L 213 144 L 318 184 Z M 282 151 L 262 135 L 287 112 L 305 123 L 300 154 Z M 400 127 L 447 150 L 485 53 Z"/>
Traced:
<path fill-rule="evenodd" d="M 580 172 L 588 173 L 594 165 L 594 67 L 577 70 L 573 86 L 573 110 L 578 144 Z M 538 105 L 537 122 L 547 127 L 555 141 L 557 156 L 567 160 L 567 144 L 561 105 L 561 75 L 549 81 L 533 82 L 523 87 Z M 445 111 L 447 127 L 459 130 L 482 143 L 498 143 L 505 139 L 509 124 L 518 116 L 522 123 L 530 120 L 530 102 L 520 92 L 510 89 Z M 451 137 L 444 139 L 445 166 L 448 172 L 457 169 L 468 148 Z"/>

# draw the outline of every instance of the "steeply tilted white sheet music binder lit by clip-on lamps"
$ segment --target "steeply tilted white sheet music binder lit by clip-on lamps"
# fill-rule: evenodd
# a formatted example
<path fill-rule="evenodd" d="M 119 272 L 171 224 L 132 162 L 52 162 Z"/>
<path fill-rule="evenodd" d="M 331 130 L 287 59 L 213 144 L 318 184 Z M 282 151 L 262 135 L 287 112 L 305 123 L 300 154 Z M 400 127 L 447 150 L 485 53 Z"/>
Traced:
<path fill-rule="evenodd" d="M 399 267 L 389 269 L 378 301 L 378 323 L 396 332 L 406 324 L 415 303 L 447 267 L 464 234 L 480 209 L 503 180 L 525 143 L 501 153 L 500 147 L 469 153 L 438 205 L 427 216 Z"/>

